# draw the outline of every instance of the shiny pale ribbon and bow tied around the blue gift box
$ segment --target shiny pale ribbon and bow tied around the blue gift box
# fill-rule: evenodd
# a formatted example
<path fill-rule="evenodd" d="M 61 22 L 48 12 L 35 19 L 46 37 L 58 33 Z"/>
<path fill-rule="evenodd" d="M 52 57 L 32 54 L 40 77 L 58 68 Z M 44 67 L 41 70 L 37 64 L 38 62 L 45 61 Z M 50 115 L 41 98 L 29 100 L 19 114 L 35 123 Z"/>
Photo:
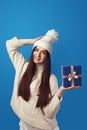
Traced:
<path fill-rule="evenodd" d="M 81 75 L 76 74 L 73 66 L 71 66 L 71 73 L 69 73 L 69 75 L 63 75 L 63 78 L 68 78 L 68 81 L 72 82 L 72 86 L 74 86 L 74 78 L 79 79 L 80 77 L 81 77 Z"/>

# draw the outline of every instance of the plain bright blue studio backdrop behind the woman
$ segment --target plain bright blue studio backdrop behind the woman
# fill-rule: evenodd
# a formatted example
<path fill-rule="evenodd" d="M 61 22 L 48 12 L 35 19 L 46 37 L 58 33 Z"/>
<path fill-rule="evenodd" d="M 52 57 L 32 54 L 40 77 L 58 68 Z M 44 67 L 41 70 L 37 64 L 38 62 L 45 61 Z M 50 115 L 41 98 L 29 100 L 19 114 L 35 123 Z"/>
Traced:
<path fill-rule="evenodd" d="M 14 36 L 35 38 L 48 29 L 59 32 L 53 44 L 52 72 L 61 85 L 61 65 L 82 66 L 82 87 L 64 92 L 57 114 L 60 130 L 87 130 L 86 0 L 0 0 L 0 130 L 19 130 L 10 107 L 15 71 L 5 42 Z M 20 49 L 29 59 L 32 46 Z"/>

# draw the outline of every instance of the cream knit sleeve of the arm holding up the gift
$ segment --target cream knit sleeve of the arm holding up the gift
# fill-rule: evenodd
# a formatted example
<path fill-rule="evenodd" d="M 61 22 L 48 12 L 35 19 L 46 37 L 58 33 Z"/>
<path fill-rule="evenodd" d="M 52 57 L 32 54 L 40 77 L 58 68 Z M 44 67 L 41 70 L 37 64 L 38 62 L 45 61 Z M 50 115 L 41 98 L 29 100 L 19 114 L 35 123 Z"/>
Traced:
<path fill-rule="evenodd" d="M 47 116 L 48 118 L 53 118 L 56 115 L 57 111 L 59 110 L 61 102 L 61 100 L 59 100 L 57 96 L 58 81 L 55 75 L 51 75 L 50 77 L 50 87 L 51 87 L 52 99 L 50 103 L 46 107 L 44 107 L 44 113 L 45 116 Z"/>

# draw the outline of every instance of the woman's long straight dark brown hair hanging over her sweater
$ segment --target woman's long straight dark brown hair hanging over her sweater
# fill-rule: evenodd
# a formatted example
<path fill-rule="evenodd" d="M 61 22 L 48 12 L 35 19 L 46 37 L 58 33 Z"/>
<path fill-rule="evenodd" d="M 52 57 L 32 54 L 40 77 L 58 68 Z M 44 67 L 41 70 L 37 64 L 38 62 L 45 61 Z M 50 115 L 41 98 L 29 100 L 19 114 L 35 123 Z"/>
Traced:
<path fill-rule="evenodd" d="M 21 96 L 25 101 L 28 101 L 31 97 L 30 93 L 30 84 L 32 82 L 33 76 L 36 71 L 36 64 L 33 62 L 33 52 L 32 51 L 29 65 L 22 76 L 22 79 L 19 83 L 18 88 L 18 96 Z M 49 103 L 51 97 L 51 90 L 49 85 L 49 78 L 50 78 L 50 54 L 46 51 L 46 58 L 44 62 L 44 69 L 42 72 L 41 77 L 41 84 L 39 86 L 39 97 L 36 104 L 36 107 L 40 107 L 41 109 Z"/>

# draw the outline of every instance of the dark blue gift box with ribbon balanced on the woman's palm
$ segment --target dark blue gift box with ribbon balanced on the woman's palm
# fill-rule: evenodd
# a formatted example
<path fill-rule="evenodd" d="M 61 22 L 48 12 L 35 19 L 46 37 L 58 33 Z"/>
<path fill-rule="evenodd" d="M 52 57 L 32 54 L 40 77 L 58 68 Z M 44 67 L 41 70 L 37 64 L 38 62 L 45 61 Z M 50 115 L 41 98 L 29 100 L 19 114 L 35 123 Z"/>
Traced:
<path fill-rule="evenodd" d="M 81 86 L 82 73 L 81 66 L 62 66 L 62 85 L 64 87 L 69 86 Z"/>

